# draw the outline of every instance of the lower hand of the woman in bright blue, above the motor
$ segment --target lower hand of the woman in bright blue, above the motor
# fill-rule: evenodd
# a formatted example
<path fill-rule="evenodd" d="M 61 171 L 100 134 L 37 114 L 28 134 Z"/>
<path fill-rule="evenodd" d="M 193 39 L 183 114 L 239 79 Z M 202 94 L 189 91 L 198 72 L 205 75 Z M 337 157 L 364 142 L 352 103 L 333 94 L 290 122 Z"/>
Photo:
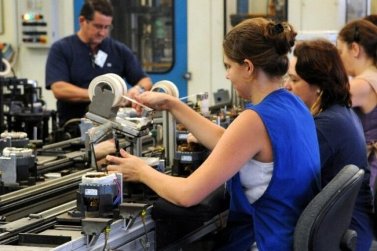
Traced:
<path fill-rule="evenodd" d="M 122 158 L 115 157 L 112 155 L 106 156 L 106 160 L 111 165 L 108 165 L 109 174 L 123 174 L 123 180 L 142 182 L 141 174 L 146 168 L 150 168 L 142 159 L 131 155 L 130 153 L 121 149 L 120 154 Z"/>

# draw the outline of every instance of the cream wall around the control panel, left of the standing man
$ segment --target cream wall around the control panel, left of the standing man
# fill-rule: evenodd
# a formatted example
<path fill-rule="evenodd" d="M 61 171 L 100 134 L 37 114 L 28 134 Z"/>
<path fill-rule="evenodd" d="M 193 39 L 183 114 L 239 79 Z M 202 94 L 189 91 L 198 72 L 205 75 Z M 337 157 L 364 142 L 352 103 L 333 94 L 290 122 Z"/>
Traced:
<path fill-rule="evenodd" d="M 44 100 L 48 109 L 56 109 L 55 98 L 51 91 L 45 86 L 45 64 L 49 49 L 30 49 L 18 46 L 16 0 L 3 0 L 3 33 L 0 34 L 0 42 L 11 43 L 14 50 L 18 52 L 14 70 L 17 77 L 37 80 L 38 86 L 42 88 Z M 60 35 L 67 36 L 74 32 L 73 0 L 59 0 L 59 27 Z"/>

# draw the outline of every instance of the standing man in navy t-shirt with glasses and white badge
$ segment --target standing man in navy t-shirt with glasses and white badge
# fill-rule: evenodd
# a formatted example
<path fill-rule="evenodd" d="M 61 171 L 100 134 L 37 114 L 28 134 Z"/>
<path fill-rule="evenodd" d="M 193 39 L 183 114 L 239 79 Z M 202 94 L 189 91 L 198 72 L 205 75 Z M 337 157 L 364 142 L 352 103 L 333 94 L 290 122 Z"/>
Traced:
<path fill-rule="evenodd" d="M 152 88 L 132 50 L 108 37 L 113 7 L 107 0 L 86 0 L 79 17 L 80 30 L 55 42 L 46 63 L 46 88 L 57 99 L 59 126 L 82 118 L 89 100 L 88 86 L 98 75 L 114 73 L 133 85 L 133 98 Z"/>

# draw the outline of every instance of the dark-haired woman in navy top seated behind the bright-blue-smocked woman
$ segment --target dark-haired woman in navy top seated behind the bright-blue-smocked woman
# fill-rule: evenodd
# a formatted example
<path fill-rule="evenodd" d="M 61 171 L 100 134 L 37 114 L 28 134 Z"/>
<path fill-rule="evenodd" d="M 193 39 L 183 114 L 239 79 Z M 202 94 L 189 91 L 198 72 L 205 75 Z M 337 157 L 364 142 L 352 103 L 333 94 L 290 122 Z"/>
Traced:
<path fill-rule="evenodd" d="M 365 171 L 350 229 L 357 232 L 357 251 L 372 244 L 372 193 L 361 123 L 351 107 L 350 84 L 336 47 L 327 40 L 300 42 L 288 70 L 286 89 L 299 96 L 314 116 L 321 154 L 322 186 L 346 165 Z"/>

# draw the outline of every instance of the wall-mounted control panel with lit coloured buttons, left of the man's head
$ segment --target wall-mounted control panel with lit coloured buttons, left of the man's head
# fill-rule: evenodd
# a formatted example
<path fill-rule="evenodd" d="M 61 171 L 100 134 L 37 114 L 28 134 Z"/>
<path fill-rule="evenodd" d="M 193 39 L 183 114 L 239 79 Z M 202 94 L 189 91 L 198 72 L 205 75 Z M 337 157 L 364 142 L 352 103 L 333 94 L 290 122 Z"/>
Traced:
<path fill-rule="evenodd" d="M 48 48 L 58 40 L 58 0 L 17 0 L 20 44 Z"/>

